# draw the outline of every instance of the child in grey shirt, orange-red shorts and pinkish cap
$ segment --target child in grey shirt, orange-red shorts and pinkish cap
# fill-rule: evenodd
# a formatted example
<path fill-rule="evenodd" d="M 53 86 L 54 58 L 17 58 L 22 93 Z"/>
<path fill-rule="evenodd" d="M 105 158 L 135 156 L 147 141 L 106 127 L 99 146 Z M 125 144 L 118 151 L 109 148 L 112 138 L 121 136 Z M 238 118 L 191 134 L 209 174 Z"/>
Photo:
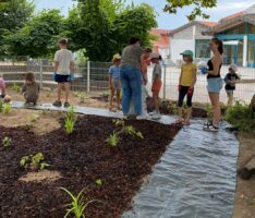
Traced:
<path fill-rule="evenodd" d="M 149 113 L 151 116 L 153 120 L 158 120 L 160 119 L 160 112 L 159 112 L 159 92 L 162 85 L 161 82 L 161 74 L 162 74 L 162 69 L 160 65 L 160 60 L 162 60 L 161 56 L 157 52 L 150 53 L 150 61 L 154 63 L 154 70 L 153 70 L 153 98 L 154 98 L 154 106 L 155 106 L 155 111 Z"/>

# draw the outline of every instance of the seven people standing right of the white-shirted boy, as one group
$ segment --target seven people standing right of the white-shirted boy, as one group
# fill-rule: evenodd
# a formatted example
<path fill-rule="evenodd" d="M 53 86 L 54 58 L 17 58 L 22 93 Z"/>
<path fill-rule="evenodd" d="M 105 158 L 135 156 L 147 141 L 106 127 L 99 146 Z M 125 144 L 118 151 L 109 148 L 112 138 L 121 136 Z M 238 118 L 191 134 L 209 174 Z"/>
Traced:
<path fill-rule="evenodd" d="M 220 90 L 223 86 L 223 81 L 220 75 L 222 65 L 223 44 L 218 38 L 212 38 L 209 43 L 210 51 L 214 53 L 212 58 L 207 62 L 207 66 L 202 68 L 203 74 L 207 74 L 207 89 L 212 106 L 212 119 L 204 123 L 203 129 L 210 132 L 219 130 L 219 122 L 221 120 L 220 109 Z M 181 74 L 179 78 L 179 99 L 178 123 L 189 125 L 192 118 L 192 98 L 194 87 L 196 84 L 197 65 L 193 62 L 194 55 L 191 50 L 185 50 L 181 53 L 183 57 L 183 64 L 181 66 Z M 146 119 L 145 110 L 145 86 L 148 82 L 147 66 L 153 64 L 153 81 L 151 92 L 155 104 L 155 111 L 149 113 L 154 120 L 160 119 L 159 112 L 159 92 L 161 88 L 161 57 L 157 52 L 151 52 L 150 49 L 143 50 L 138 38 L 131 38 L 130 45 L 124 48 L 122 56 L 116 55 L 113 57 L 113 65 L 109 69 L 109 87 L 110 110 L 112 110 L 112 101 L 117 93 L 118 109 L 121 109 L 120 94 L 122 89 L 122 111 L 125 118 L 130 114 L 136 114 L 137 119 Z M 229 73 L 224 77 L 226 90 L 228 94 L 228 104 L 232 105 L 233 90 L 235 89 L 235 82 L 240 80 L 236 74 L 236 65 L 229 66 Z M 183 117 L 183 100 L 186 97 L 187 114 Z M 132 112 L 130 112 L 132 111 Z"/>

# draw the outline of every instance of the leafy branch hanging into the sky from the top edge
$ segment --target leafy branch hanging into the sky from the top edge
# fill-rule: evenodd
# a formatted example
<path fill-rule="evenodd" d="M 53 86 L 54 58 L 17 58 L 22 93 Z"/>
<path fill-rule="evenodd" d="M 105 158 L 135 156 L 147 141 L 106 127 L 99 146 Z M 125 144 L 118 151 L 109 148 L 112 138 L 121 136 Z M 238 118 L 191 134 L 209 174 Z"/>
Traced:
<path fill-rule="evenodd" d="M 203 9 L 214 8 L 217 5 L 217 0 L 167 0 L 167 2 L 168 4 L 165 7 L 165 11 L 174 14 L 179 8 L 195 5 L 191 14 L 187 15 L 190 21 L 194 21 L 196 16 L 209 19 L 209 15 L 204 13 Z"/>

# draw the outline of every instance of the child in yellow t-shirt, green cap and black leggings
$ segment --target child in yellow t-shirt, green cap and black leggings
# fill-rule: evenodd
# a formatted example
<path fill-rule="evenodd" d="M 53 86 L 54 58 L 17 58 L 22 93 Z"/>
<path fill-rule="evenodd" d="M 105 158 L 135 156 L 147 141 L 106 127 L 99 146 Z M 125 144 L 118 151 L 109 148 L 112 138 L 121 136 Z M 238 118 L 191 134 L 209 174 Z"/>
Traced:
<path fill-rule="evenodd" d="M 183 56 L 184 64 L 181 66 L 181 75 L 179 78 L 178 122 L 189 125 L 192 117 L 192 97 L 196 83 L 197 68 L 196 64 L 193 63 L 193 52 L 191 50 L 185 50 L 181 55 Z M 185 96 L 187 98 L 187 117 L 183 119 L 183 100 Z"/>

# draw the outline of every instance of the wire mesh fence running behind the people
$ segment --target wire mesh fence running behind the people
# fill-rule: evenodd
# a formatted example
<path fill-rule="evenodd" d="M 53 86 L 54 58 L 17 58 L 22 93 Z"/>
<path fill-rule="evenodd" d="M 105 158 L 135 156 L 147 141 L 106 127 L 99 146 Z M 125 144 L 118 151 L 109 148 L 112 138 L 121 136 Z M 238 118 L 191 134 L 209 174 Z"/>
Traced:
<path fill-rule="evenodd" d="M 84 65 L 75 68 L 74 80 L 71 83 L 71 88 L 74 92 L 107 92 L 108 90 L 108 69 L 111 65 L 109 62 L 87 62 Z M 24 75 L 26 72 L 33 71 L 36 75 L 37 82 L 41 87 L 56 88 L 56 83 L 52 80 L 53 66 L 52 62 L 47 59 L 34 60 L 27 57 L 19 58 L 0 58 L 0 73 L 3 74 L 8 85 L 22 84 L 24 82 Z M 151 88 L 151 72 L 153 69 L 148 69 L 149 83 L 147 89 L 150 94 Z M 163 86 L 160 92 L 161 98 L 171 100 L 178 99 L 178 83 L 181 73 L 180 68 L 165 64 L 162 65 L 162 82 Z M 228 73 L 228 66 L 224 65 L 221 69 L 221 76 Z M 255 80 L 255 69 L 239 68 L 238 74 L 243 80 Z M 197 74 L 197 83 L 194 93 L 194 102 L 206 104 L 209 102 L 207 89 L 206 89 L 206 76 Z M 250 102 L 252 96 L 255 94 L 255 83 L 236 84 L 236 90 L 234 97 L 238 100 Z M 227 94 L 222 89 L 221 101 L 227 102 Z"/>

